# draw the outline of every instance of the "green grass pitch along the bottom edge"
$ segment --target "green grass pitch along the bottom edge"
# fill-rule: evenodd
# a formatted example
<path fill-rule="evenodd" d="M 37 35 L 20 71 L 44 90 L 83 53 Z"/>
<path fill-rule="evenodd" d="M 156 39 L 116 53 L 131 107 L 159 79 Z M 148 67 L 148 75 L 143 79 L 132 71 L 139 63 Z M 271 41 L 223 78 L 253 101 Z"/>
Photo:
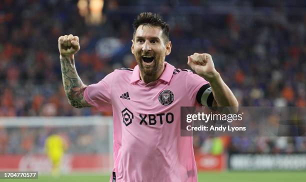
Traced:
<path fill-rule="evenodd" d="M 38 175 L 38 179 L 0 179 L 0 181 L 22 182 L 108 182 L 109 176 L 96 173 L 75 173 L 53 178 L 48 175 Z M 256 172 L 200 172 L 198 181 L 209 182 L 305 182 L 306 171 L 256 171 Z M 135 181 L 136 182 L 136 181 Z M 156 181 L 159 182 L 159 181 Z"/>

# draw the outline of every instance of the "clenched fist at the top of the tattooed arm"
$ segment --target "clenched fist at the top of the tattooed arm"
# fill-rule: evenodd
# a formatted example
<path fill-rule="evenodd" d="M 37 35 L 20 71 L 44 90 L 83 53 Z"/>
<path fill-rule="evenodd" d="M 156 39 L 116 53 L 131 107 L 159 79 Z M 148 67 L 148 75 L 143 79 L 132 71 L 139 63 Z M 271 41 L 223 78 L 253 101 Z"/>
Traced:
<path fill-rule="evenodd" d="M 78 36 L 72 34 L 58 38 L 58 50 L 61 55 L 73 55 L 79 50 Z"/>

